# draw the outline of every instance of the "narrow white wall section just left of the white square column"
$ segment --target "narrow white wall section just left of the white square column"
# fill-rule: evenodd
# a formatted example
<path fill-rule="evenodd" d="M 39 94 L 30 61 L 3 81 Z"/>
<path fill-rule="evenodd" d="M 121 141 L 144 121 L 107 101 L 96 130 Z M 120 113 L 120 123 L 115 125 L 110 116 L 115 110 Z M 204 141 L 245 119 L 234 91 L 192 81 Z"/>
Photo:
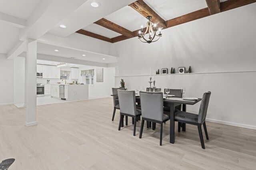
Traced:
<path fill-rule="evenodd" d="M 14 59 L 14 104 L 23 104 L 25 100 L 25 58 Z"/>

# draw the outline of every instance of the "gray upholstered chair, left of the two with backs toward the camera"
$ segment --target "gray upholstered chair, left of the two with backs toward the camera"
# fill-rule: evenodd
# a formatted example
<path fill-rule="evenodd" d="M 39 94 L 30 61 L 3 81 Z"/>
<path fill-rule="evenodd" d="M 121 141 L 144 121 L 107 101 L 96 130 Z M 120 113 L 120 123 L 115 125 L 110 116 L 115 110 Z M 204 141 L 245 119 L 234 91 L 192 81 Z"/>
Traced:
<path fill-rule="evenodd" d="M 135 91 L 128 91 L 128 90 L 117 90 L 118 93 L 118 100 L 120 106 L 120 121 L 118 126 L 118 131 L 121 129 L 121 123 L 124 119 L 124 116 L 129 116 L 134 118 L 134 129 L 133 135 L 136 134 L 136 120 L 141 115 L 140 109 L 136 108 L 136 98 L 135 98 Z M 126 124 L 127 125 L 127 124 Z"/>

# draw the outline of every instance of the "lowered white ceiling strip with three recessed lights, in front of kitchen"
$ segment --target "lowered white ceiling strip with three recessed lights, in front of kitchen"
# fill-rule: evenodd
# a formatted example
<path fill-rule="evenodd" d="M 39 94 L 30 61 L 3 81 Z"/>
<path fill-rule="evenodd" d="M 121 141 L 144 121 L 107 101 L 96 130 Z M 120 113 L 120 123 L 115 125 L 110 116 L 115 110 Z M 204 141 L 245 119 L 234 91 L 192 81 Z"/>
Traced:
<path fill-rule="evenodd" d="M 54 51 L 56 49 L 58 50 L 58 52 Z M 96 54 L 96 53 L 88 53 L 85 51 L 68 49 L 65 47 L 58 47 L 58 46 L 48 45 L 44 43 L 37 43 L 37 53 L 44 54 L 44 55 L 53 55 L 58 57 L 66 57 L 66 58 L 74 57 L 79 60 L 93 61 L 97 63 L 106 63 L 106 64 L 117 63 L 116 57 Z M 82 55 L 86 55 L 86 56 L 82 56 Z"/>

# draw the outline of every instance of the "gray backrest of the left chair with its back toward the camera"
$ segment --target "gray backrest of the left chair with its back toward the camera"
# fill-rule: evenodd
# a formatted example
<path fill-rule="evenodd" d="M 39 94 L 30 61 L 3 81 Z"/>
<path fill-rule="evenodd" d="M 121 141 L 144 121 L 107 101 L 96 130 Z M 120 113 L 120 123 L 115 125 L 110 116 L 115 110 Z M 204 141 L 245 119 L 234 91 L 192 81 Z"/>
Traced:
<path fill-rule="evenodd" d="M 117 90 L 120 112 L 136 115 L 135 91 Z"/>

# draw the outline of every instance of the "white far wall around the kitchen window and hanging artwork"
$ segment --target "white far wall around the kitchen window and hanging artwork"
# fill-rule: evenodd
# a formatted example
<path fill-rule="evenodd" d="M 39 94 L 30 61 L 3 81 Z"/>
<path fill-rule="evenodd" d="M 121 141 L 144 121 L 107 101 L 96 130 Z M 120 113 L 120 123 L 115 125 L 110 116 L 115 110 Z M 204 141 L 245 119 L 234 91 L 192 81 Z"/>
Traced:
<path fill-rule="evenodd" d="M 102 67 L 96 66 L 84 66 L 79 68 L 79 73 L 81 70 L 94 69 L 94 86 L 89 86 L 89 95 L 94 96 L 110 96 L 112 94 L 111 88 L 114 87 L 114 67 L 103 67 L 103 82 L 96 82 L 96 69 Z M 79 82 L 85 83 L 85 78 L 80 78 Z"/>

